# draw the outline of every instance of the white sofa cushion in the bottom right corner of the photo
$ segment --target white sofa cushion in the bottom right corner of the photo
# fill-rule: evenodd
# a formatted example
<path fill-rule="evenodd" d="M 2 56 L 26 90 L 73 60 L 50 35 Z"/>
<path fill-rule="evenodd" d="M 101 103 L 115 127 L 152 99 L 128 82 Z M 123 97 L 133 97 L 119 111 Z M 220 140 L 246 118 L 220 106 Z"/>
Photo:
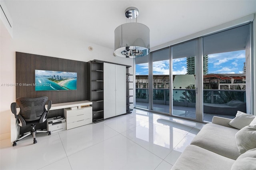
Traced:
<path fill-rule="evenodd" d="M 256 170 L 256 148 L 241 154 L 231 167 L 231 170 Z"/>

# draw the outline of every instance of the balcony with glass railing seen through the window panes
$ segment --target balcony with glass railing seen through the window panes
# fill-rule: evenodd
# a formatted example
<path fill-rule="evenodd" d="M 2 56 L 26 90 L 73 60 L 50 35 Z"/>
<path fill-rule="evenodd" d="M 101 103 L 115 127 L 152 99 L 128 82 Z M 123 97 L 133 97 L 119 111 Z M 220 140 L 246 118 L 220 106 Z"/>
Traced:
<path fill-rule="evenodd" d="M 153 110 L 161 111 L 164 113 L 170 112 L 169 107 L 169 89 L 153 89 Z M 213 105 L 216 110 L 223 110 L 222 107 L 230 101 L 239 101 L 240 103 L 246 102 L 245 90 L 213 90 L 204 89 L 203 91 L 204 105 Z M 243 107 L 244 107 L 243 106 Z M 136 107 L 148 108 L 148 89 L 136 89 Z M 236 106 L 233 110 L 236 110 Z M 232 109 L 231 107 L 231 109 Z M 246 109 L 246 107 L 244 108 Z M 209 109 L 208 109 L 209 112 Z M 220 112 L 221 113 L 221 112 Z M 173 90 L 173 115 L 196 118 L 196 91 L 195 89 L 174 89 Z M 222 112 L 206 113 L 204 112 L 204 121 L 212 121 L 213 116 L 220 116 L 226 118 L 234 118 L 236 112 L 232 113 Z"/>

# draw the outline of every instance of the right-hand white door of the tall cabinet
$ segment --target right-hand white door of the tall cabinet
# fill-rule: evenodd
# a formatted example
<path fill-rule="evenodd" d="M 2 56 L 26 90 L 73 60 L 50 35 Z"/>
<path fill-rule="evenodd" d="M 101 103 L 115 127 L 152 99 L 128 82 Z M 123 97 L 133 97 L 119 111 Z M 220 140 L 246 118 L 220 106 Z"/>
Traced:
<path fill-rule="evenodd" d="M 116 116 L 126 113 L 126 66 L 116 65 Z"/>

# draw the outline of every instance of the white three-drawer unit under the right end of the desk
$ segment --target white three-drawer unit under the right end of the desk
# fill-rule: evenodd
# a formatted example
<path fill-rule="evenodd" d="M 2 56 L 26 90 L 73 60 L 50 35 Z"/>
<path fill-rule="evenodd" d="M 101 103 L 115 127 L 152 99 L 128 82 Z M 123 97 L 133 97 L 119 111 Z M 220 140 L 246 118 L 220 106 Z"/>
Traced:
<path fill-rule="evenodd" d="M 87 106 L 77 110 L 64 109 L 66 128 L 80 127 L 92 123 L 92 107 Z"/>

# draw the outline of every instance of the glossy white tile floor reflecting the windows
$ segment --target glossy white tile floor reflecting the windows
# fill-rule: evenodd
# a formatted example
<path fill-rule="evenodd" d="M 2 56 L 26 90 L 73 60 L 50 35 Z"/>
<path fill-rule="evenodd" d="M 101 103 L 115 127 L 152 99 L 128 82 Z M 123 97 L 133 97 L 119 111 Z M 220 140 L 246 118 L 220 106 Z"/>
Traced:
<path fill-rule="evenodd" d="M 170 170 L 204 126 L 134 109 L 129 115 L 37 134 L 0 149 L 1 170 Z"/>

